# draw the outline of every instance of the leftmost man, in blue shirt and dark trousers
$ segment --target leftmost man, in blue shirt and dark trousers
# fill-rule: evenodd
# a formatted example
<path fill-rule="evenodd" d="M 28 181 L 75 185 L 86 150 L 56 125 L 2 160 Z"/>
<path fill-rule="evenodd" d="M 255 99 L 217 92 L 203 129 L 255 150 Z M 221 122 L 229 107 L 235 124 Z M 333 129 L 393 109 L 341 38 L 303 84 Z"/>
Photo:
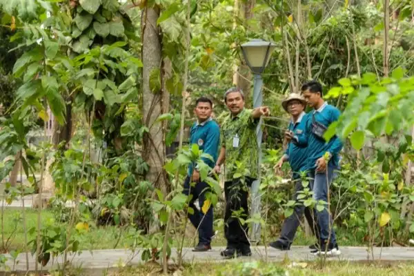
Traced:
<path fill-rule="evenodd" d="M 210 155 L 213 160 L 204 158 L 203 161 L 210 168 L 213 168 L 217 161 L 219 150 L 220 129 L 219 125 L 211 118 L 213 112 L 213 102 L 206 98 L 200 97 L 195 103 L 195 115 L 197 121 L 190 129 L 190 145 L 197 144 L 200 150 Z M 211 249 L 210 242 L 213 237 L 213 206 L 203 213 L 203 208 L 195 207 L 195 200 L 198 199 L 199 206 L 204 206 L 206 193 L 211 192 L 210 186 L 200 179 L 199 170 L 195 164 L 188 167 L 188 176 L 184 182 L 185 195 L 192 195 L 188 206 L 194 210 L 194 213 L 188 213 L 191 224 L 199 232 L 199 243 L 193 251 L 203 252 Z"/>

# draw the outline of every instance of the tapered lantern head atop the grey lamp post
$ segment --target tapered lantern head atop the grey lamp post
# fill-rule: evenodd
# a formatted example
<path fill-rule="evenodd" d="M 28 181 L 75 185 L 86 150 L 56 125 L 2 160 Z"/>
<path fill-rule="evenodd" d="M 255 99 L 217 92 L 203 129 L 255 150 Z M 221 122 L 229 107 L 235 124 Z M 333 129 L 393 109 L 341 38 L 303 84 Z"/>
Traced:
<path fill-rule="evenodd" d="M 247 43 L 242 44 L 244 60 L 254 74 L 262 74 L 275 47 L 275 43 L 262 39 L 251 39 Z"/>

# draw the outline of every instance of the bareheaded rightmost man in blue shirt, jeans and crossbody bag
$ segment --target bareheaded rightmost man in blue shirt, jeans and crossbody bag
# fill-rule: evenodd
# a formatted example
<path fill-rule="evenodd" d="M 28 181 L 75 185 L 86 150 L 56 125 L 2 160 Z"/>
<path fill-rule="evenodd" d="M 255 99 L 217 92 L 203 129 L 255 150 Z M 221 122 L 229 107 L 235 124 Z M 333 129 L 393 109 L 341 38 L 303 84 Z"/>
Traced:
<path fill-rule="evenodd" d="M 306 123 L 306 141 L 308 146 L 308 176 L 313 189 L 315 200 L 328 201 L 329 186 L 331 186 L 334 170 L 339 166 L 339 152 L 342 150 L 342 141 L 334 136 L 325 141 L 324 132 L 339 118 L 340 112 L 335 106 L 324 101 L 322 86 L 317 81 L 309 81 L 302 86 L 302 95 L 308 106 L 313 108 L 308 114 Z M 300 140 L 299 143 L 303 141 Z M 305 143 L 306 144 L 306 143 Z M 319 226 L 320 246 L 312 253 L 315 255 L 340 255 L 332 226 L 330 211 L 326 208 L 321 212 L 314 210 Z M 328 243 L 329 242 L 329 243 Z"/>

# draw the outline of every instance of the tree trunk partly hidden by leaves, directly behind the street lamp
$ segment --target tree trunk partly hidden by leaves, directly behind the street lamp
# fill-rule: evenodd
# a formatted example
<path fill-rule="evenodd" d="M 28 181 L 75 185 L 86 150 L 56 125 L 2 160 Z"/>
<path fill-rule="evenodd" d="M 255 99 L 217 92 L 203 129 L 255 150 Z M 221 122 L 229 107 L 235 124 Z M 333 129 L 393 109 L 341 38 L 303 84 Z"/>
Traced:
<path fill-rule="evenodd" d="M 253 8 L 255 8 L 256 0 L 246 0 L 243 2 L 244 9 L 244 19 L 248 21 L 253 17 Z M 248 106 L 253 106 L 253 103 L 250 103 L 250 90 L 252 87 L 252 73 L 250 68 L 246 65 L 246 62 L 242 59 L 242 63 L 239 66 L 237 74 L 237 88 L 240 88 L 244 91 L 244 100 Z"/>

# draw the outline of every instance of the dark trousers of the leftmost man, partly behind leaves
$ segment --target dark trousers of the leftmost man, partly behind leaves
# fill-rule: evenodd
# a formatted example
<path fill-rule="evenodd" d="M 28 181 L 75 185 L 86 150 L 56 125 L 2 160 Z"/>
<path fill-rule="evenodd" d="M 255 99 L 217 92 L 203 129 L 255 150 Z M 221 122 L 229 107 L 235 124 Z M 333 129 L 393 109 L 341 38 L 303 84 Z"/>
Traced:
<path fill-rule="evenodd" d="M 206 182 L 197 182 L 195 186 L 190 186 L 191 179 L 190 177 L 186 178 L 184 182 L 184 195 L 193 195 L 188 202 L 188 207 L 193 208 L 194 213 L 188 213 L 188 218 L 191 221 L 191 224 L 197 229 L 199 233 L 199 244 L 209 245 L 211 242 L 211 237 L 213 237 L 213 205 L 210 205 L 207 213 L 204 214 L 202 206 L 206 200 L 206 193 L 211 191 L 210 185 Z M 199 200 L 200 210 L 195 207 L 194 201 Z"/>

